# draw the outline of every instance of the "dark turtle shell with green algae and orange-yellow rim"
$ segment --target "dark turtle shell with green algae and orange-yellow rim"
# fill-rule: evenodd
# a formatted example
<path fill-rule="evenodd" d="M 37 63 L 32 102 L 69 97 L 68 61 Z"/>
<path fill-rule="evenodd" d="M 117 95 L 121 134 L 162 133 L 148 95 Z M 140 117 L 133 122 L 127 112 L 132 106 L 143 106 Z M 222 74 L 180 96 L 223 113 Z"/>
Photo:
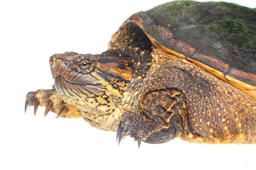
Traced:
<path fill-rule="evenodd" d="M 172 1 L 130 16 L 150 41 L 256 98 L 256 10 L 234 3 Z"/>

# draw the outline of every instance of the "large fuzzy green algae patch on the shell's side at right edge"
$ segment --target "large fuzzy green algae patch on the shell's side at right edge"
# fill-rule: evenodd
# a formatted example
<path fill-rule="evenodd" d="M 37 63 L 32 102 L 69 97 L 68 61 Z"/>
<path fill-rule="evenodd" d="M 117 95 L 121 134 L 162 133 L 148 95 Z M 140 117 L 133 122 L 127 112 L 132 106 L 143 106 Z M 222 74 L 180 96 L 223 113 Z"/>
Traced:
<path fill-rule="evenodd" d="M 244 20 L 223 18 L 203 27 L 213 37 L 229 41 L 245 51 L 256 52 L 256 33 Z"/>

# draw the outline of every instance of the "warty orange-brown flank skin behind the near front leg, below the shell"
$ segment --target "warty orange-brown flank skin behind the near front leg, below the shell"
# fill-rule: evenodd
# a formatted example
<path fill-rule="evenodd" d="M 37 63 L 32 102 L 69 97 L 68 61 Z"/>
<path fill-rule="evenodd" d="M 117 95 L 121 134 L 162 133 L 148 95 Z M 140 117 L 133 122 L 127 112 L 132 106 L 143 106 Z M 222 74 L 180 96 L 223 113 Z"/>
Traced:
<path fill-rule="evenodd" d="M 188 115 L 183 121 L 181 139 L 199 143 L 255 143 L 256 99 L 158 48 L 153 48 L 152 58 L 156 67 L 152 68 L 151 84 L 147 82 L 149 86 L 145 89 L 152 91 L 161 84 L 177 88 L 185 97 Z"/>

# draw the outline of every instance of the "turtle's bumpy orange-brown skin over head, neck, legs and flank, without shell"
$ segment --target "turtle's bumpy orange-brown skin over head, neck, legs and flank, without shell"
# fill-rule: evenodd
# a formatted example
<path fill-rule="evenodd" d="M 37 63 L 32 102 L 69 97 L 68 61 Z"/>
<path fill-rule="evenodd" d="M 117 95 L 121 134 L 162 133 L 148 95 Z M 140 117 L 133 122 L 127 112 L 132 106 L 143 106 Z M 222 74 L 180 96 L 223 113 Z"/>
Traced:
<path fill-rule="evenodd" d="M 127 25 L 102 54 L 53 55 L 57 91 L 30 92 L 26 104 L 49 110 L 51 99 L 51 111 L 117 131 L 119 143 L 127 135 L 139 146 L 141 140 L 163 143 L 175 137 L 195 143 L 255 143 L 255 98 L 152 46 L 141 32 Z M 90 71 L 77 69 L 79 58 L 92 61 Z"/>

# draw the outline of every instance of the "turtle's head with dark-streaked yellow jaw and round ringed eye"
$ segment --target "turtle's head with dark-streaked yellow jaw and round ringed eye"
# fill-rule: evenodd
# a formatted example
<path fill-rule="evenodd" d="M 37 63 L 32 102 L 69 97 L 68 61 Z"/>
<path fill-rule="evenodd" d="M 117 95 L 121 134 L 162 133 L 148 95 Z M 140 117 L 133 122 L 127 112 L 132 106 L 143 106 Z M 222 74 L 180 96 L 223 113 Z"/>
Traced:
<path fill-rule="evenodd" d="M 54 54 L 54 86 L 65 102 L 91 114 L 112 113 L 132 76 L 129 57 L 116 54 Z"/>

